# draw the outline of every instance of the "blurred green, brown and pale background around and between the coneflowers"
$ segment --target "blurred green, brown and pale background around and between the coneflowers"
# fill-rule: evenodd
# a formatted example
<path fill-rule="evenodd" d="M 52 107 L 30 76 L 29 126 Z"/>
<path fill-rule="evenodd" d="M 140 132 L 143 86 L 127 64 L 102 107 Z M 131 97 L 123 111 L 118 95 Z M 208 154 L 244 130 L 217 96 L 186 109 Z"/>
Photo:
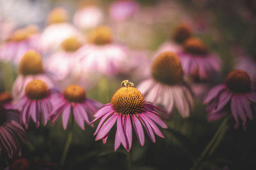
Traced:
<path fill-rule="evenodd" d="M 143 50 L 149 60 L 152 59 L 157 47 L 168 39 L 173 27 L 184 22 L 190 25 L 194 36 L 200 38 L 207 48 L 223 61 L 221 75 L 216 83 L 225 80 L 225 76 L 234 69 L 241 55 L 256 60 L 256 1 L 137 2 L 140 5 L 138 13 L 117 24 L 109 17 L 109 6 L 113 1 L 93 1 L 104 13 L 101 24 L 109 25 L 113 29 L 115 39 L 131 49 Z M 80 1 L 71 0 L 0 0 L 0 22 L 8 22 L 10 29 L 36 24 L 40 30 L 44 30 L 47 15 L 53 8 L 65 8 L 71 21 L 79 4 Z M 0 90 L 10 91 L 16 77 L 17 66 L 1 62 Z M 103 104 L 109 103 L 111 96 L 120 87 L 120 82 L 125 79 L 131 80 L 135 85 L 141 81 L 136 74 L 102 77 L 95 87 L 86 90 L 86 95 Z M 179 113 L 174 112 L 165 122 L 170 128 L 163 129 L 165 138 L 157 138 L 156 143 L 146 138 L 145 145 L 141 147 L 136 141 L 136 136 L 133 136 L 133 169 L 191 168 L 221 124 L 221 120 L 207 122 L 202 99 L 195 99 L 195 106 L 189 118 L 184 119 Z M 256 169 L 255 123 L 254 113 L 254 120 L 248 122 L 246 130 L 228 128 L 222 141 L 216 141 L 214 152 L 204 157 L 198 169 Z M 101 141 L 95 141 L 95 129 L 87 124 L 85 131 L 77 125 L 74 125 L 73 131 L 72 144 L 64 169 L 127 169 L 127 152 L 124 148 L 119 148 L 116 152 L 113 150 L 114 130 L 109 134 L 106 145 Z M 38 129 L 31 121 L 27 132 L 30 144 L 22 144 L 22 157 L 45 160 L 49 163 L 60 161 L 67 138 L 60 118 L 54 126 L 49 122 L 46 127 L 40 126 Z M 4 167 L 6 164 L 1 157 L 0 169 Z"/>

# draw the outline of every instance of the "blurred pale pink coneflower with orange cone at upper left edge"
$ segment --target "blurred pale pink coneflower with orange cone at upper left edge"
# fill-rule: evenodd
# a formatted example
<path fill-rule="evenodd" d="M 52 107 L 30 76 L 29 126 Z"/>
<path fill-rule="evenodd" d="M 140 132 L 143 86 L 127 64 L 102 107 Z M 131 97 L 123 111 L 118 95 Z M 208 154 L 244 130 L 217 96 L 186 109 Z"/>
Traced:
<path fill-rule="evenodd" d="M 18 64 L 20 59 L 31 48 L 39 50 L 38 28 L 35 25 L 29 25 L 24 29 L 18 29 L 13 32 L 8 42 L 0 46 L 0 59 Z"/>

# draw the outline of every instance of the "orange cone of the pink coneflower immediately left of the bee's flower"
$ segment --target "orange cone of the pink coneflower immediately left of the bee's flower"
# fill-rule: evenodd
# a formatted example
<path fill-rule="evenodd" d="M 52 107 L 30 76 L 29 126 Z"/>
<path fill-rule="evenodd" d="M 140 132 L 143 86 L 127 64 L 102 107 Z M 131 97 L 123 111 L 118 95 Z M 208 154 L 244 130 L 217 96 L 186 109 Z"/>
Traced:
<path fill-rule="evenodd" d="M 86 94 L 83 87 L 79 85 L 69 85 L 64 90 L 64 98 L 70 103 L 83 103 Z"/>

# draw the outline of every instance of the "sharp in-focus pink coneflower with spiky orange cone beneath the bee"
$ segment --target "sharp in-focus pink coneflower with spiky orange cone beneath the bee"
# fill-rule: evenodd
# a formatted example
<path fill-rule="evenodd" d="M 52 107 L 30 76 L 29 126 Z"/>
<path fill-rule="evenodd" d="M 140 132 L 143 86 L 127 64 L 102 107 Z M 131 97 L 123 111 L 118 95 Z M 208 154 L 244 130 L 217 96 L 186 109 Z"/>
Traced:
<path fill-rule="evenodd" d="M 116 122 L 115 151 L 121 143 L 125 150 L 128 152 L 131 150 L 132 124 L 141 146 L 144 145 L 145 141 L 142 125 L 154 143 L 156 142 L 154 134 L 164 138 L 157 125 L 167 128 L 166 124 L 164 124 L 156 112 L 156 110 L 161 109 L 145 102 L 141 92 L 132 87 L 132 85 L 129 82 L 125 87 L 118 89 L 113 95 L 111 103 L 105 104 L 93 115 L 96 117 L 93 122 L 100 119 L 99 125 L 94 133 L 96 135 L 95 140 L 102 139 L 104 144 L 108 138 L 109 131 Z"/>

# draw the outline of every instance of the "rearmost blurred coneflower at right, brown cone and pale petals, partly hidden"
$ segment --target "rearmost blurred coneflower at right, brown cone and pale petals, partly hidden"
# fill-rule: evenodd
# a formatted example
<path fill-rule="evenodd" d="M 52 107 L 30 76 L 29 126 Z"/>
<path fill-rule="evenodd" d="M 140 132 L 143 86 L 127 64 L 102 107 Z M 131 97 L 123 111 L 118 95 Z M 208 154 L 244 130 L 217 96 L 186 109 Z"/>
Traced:
<path fill-rule="evenodd" d="M 186 39 L 190 38 L 191 34 L 192 31 L 188 25 L 177 25 L 173 29 L 170 38 L 159 46 L 154 56 L 157 57 L 160 53 L 163 52 L 180 52 L 180 50 L 182 49 L 182 43 L 184 43 Z"/>

